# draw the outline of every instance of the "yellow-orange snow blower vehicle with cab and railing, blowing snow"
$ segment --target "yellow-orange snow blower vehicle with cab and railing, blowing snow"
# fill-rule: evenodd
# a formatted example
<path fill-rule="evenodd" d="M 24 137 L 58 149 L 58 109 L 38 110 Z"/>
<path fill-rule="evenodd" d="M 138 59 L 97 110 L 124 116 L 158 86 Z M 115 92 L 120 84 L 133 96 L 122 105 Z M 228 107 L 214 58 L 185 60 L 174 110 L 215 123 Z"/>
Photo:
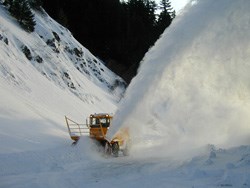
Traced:
<path fill-rule="evenodd" d="M 119 151 L 121 151 L 123 155 L 127 156 L 130 148 L 128 128 L 120 129 L 111 141 L 106 138 L 112 118 L 113 116 L 108 113 L 91 114 L 85 124 L 79 124 L 65 116 L 69 135 L 74 141 L 73 145 L 77 144 L 82 135 L 89 135 L 91 139 L 104 147 L 106 155 L 118 157 Z"/>

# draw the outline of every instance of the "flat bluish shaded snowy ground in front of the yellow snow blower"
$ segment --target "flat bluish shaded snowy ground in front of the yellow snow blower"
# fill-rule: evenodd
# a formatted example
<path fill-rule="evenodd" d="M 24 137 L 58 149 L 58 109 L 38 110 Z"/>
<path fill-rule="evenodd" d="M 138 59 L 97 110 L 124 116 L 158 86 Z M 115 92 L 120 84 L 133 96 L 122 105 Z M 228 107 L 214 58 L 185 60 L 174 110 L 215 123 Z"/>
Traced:
<path fill-rule="evenodd" d="M 86 139 L 74 147 L 1 154 L 0 161 L 5 162 L 0 163 L 0 187 L 250 186 L 250 146 L 229 150 L 208 146 L 206 154 L 186 161 L 160 156 L 105 158 L 90 149 Z"/>

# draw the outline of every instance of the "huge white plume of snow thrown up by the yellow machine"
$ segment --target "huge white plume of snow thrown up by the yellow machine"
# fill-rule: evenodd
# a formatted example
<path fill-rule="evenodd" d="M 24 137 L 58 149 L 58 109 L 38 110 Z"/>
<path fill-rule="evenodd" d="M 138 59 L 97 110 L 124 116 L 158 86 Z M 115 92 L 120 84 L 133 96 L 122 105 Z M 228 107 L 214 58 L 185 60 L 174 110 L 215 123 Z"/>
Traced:
<path fill-rule="evenodd" d="M 145 55 L 109 136 L 134 153 L 193 155 L 250 143 L 250 1 L 190 2 Z"/>

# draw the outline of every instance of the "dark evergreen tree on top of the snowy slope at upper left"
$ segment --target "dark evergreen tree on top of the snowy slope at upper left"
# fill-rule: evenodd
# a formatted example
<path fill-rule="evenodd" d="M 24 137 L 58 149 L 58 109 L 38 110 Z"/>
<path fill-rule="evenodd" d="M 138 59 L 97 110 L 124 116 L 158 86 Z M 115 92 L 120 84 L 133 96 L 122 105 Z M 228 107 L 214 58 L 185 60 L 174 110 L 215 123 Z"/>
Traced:
<path fill-rule="evenodd" d="M 35 30 L 34 14 L 27 0 L 14 0 L 9 11 L 26 31 L 33 32 Z"/>

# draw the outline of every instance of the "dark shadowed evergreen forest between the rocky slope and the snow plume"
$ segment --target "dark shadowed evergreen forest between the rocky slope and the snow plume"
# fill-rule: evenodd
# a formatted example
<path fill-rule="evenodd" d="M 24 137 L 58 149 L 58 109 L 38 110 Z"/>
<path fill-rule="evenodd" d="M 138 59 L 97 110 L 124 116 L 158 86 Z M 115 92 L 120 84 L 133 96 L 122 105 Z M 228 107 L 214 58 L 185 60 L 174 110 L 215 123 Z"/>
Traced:
<path fill-rule="evenodd" d="M 127 82 L 175 17 L 169 0 L 43 0 L 43 7 Z"/>

